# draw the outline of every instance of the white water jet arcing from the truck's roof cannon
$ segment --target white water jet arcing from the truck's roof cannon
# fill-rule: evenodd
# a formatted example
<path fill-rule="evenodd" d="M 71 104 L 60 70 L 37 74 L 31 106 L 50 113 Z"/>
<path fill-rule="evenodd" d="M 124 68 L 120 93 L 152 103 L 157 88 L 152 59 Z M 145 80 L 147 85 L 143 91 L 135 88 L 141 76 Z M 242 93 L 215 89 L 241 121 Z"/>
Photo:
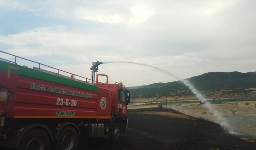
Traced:
<path fill-rule="evenodd" d="M 157 68 L 155 66 L 151 66 L 148 64 L 141 64 L 141 63 L 136 63 L 136 62 L 124 62 L 124 61 L 114 61 L 114 62 L 103 62 L 103 64 L 109 64 L 109 63 L 128 63 L 128 64 L 137 64 L 137 65 L 141 65 L 141 66 L 147 66 L 156 70 L 159 70 L 160 72 L 163 72 L 165 74 L 168 74 L 169 76 L 172 76 L 178 80 L 180 80 L 180 82 L 182 82 L 184 85 L 186 85 L 195 95 L 196 97 L 205 104 L 205 106 L 209 109 L 209 111 L 214 115 L 214 118 L 220 122 L 220 125 L 222 126 L 222 128 L 224 128 L 224 130 L 227 130 L 229 133 L 231 134 L 236 134 L 236 132 L 234 132 L 233 130 L 231 130 L 230 128 L 228 128 L 228 122 L 221 116 L 220 112 L 218 112 L 217 110 L 215 110 L 212 105 L 210 104 L 210 102 L 208 102 L 206 100 L 206 98 L 203 96 L 203 94 L 201 94 L 188 80 L 184 80 L 184 79 L 180 79 L 177 76 L 174 76 L 173 74 L 171 74 L 170 72 L 166 71 L 166 70 L 162 70 L 160 68 Z"/>

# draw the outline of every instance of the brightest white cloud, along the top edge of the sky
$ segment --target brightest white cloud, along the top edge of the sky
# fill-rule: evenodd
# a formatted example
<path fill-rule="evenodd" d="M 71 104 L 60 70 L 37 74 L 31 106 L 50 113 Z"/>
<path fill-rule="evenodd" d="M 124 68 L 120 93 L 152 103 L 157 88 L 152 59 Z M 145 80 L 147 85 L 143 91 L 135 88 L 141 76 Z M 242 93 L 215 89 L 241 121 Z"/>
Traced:
<path fill-rule="evenodd" d="M 140 24 L 154 14 L 151 7 L 136 1 L 94 3 L 74 1 L 72 4 L 49 1 L 47 14 L 77 22 L 94 21 L 108 24 Z"/>

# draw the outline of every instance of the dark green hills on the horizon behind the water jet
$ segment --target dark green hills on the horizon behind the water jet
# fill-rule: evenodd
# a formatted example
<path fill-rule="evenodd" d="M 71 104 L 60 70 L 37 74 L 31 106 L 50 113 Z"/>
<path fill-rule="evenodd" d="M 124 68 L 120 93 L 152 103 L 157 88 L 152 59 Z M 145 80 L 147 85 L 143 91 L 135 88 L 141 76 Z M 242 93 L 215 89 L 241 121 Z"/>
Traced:
<path fill-rule="evenodd" d="M 208 72 L 189 80 L 207 97 L 254 96 L 256 94 L 256 72 Z M 129 87 L 128 87 L 129 88 Z M 194 94 L 180 81 L 154 83 L 147 86 L 130 87 L 132 98 L 182 97 Z"/>

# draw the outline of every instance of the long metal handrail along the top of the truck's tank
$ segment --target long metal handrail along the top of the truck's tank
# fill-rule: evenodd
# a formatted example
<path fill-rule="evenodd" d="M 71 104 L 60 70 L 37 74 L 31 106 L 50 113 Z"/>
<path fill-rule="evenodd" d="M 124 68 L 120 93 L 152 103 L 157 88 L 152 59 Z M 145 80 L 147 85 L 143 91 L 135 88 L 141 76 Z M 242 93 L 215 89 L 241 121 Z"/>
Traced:
<path fill-rule="evenodd" d="M 41 65 L 42 65 L 42 66 L 49 67 L 49 68 L 52 68 L 52 69 L 55 69 L 55 70 L 58 70 L 58 76 L 60 75 L 60 71 L 66 72 L 66 71 L 64 71 L 64 70 L 60 70 L 60 69 L 58 69 L 58 68 L 54 68 L 54 67 L 48 66 L 48 65 L 46 65 L 46 64 L 42 64 L 42 63 L 39 63 L 39 62 L 35 62 L 35 61 L 33 61 L 33 60 L 29 60 L 29 59 L 26 59 L 26 58 L 22 58 L 22 57 L 20 57 L 20 56 L 14 55 L 14 54 L 10 54 L 10 53 L 7 53 L 7 52 L 3 52 L 3 51 L 1 51 L 1 50 L 0 50 L 0 52 L 15 57 L 14 62 L 12 62 L 12 61 L 10 61 L 10 60 L 3 59 L 3 58 L 0 58 L 1 60 L 4 60 L 4 61 L 8 61 L 8 62 L 12 62 L 12 63 L 14 63 L 14 64 L 17 64 L 17 58 L 21 58 L 21 59 L 23 59 L 23 60 L 27 60 L 27 61 L 34 62 L 34 63 L 36 63 L 36 64 L 39 64 L 39 70 L 40 70 Z M 78 77 L 80 77 L 80 78 L 84 78 L 84 79 L 86 79 L 86 81 L 85 81 L 86 83 L 87 83 L 87 80 L 89 80 L 90 82 L 92 81 L 92 80 L 89 79 L 89 78 L 85 78 L 85 77 L 79 76 L 79 75 L 77 75 L 77 74 L 73 74 L 73 73 L 70 73 L 70 72 L 66 72 L 66 73 L 71 74 L 71 75 L 74 75 L 74 77 L 75 77 L 75 76 L 78 76 Z M 73 80 L 74 80 L 74 77 L 73 77 Z"/>

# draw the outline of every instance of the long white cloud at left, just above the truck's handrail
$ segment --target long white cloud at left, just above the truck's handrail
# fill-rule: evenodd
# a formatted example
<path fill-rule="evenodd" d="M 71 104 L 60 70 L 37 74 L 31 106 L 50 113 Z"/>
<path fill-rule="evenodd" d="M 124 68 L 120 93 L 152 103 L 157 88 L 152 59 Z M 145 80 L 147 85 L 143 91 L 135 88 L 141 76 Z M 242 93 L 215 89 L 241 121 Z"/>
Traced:
<path fill-rule="evenodd" d="M 29 46 L 37 44 L 45 47 L 55 46 L 90 46 L 96 45 L 96 39 L 104 39 L 104 36 L 96 36 L 94 34 L 83 34 L 80 32 L 70 32 L 62 27 L 56 28 L 37 28 L 35 30 L 28 30 L 18 34 L 9 34 L 0 36 L 0 42 L 13 46 Z M 104 44 L 105 42 L 102 42 Z"/>

